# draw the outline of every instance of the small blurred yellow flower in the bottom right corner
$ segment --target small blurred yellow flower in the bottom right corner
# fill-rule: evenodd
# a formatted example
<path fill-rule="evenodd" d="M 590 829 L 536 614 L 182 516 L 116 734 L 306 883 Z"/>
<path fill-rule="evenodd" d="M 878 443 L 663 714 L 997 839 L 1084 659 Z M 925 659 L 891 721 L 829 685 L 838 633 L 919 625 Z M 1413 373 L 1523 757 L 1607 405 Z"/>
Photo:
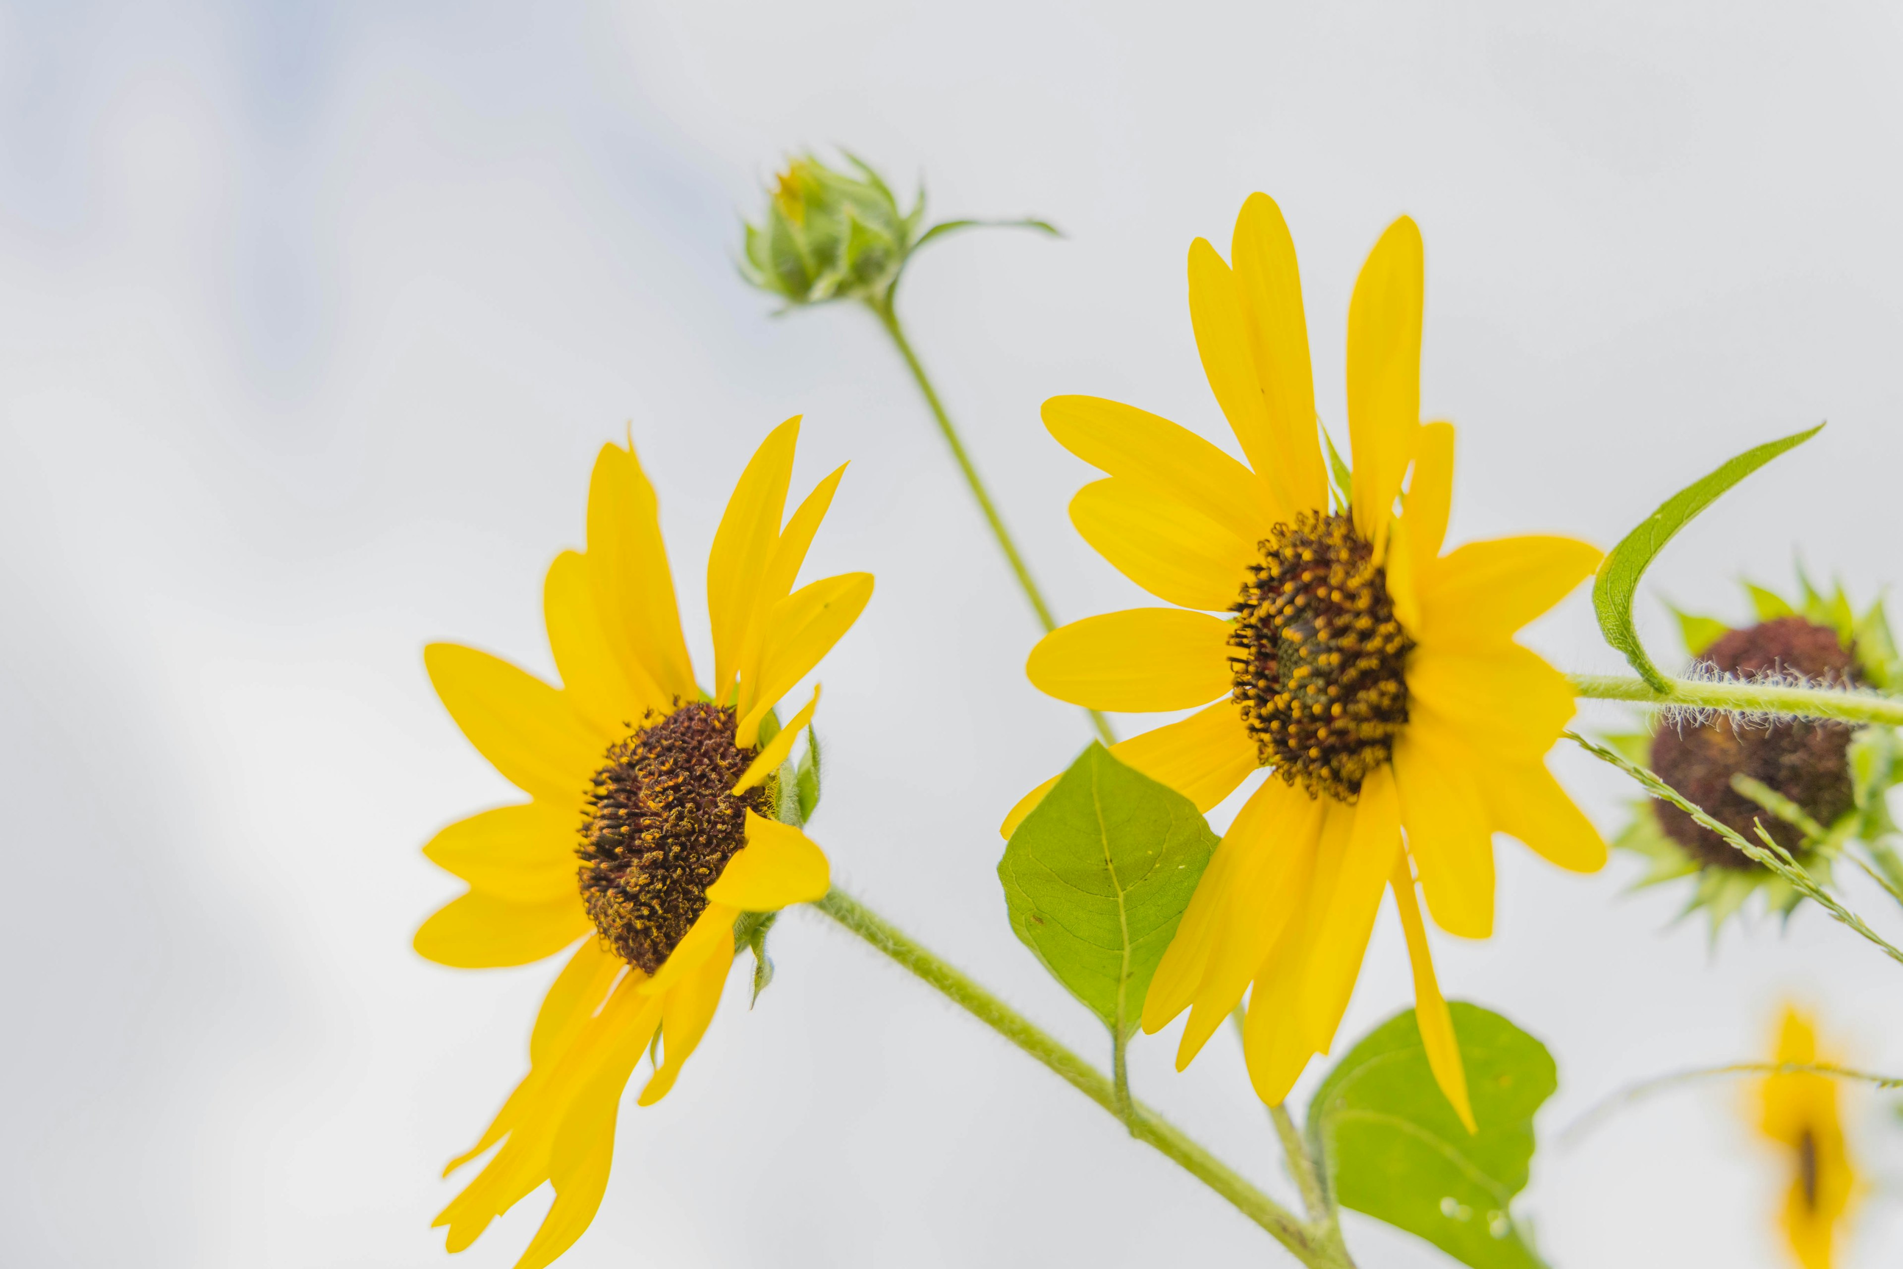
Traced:
<path fill-rule="evenodd" d="M 1817 1056 L 1817 1027 L 1806 1014 L 1785 1008 L 1777 1027 L 1777 1062 L 1810 1065 Z M 1850 1214 L 1857 1176 L 1836 1119 L 1836 1083 L 1815 1071 L 1781 1071 L 1760 1092 L 1764 1136 L 1791 1151 L 1791 1191 L 1783 1231 L 1804 1269 L 1831 1269 L 1836 1225 Z"/>

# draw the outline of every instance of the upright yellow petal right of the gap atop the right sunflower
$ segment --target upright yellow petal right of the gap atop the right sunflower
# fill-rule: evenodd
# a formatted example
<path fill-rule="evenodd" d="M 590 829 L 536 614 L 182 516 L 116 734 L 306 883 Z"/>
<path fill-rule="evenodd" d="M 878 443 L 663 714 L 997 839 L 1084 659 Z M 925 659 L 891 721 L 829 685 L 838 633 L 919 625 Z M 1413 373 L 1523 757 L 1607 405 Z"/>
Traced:
<path fill-rule="evenodd" d="M 1355 527 L 1382 559 L 1422 413 L 1422 236 L 1401 217 L 1368 253 L 1347 304 L 1347 436 Z"/>

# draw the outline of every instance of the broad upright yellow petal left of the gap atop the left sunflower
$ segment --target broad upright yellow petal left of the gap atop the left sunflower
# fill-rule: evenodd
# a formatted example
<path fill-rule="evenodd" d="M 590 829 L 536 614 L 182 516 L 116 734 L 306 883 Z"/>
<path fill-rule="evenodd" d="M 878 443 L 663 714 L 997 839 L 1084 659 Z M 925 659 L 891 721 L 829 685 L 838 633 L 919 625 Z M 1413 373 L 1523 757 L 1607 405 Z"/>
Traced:
<path fill-rule="evenodd" d="M 603 445 L 596 457 L 584 557 L 596 616 L 628 683 L 653 683 L 662 700 L 698 696 L 660 544 L 660 502 L 632 445 Z"/>

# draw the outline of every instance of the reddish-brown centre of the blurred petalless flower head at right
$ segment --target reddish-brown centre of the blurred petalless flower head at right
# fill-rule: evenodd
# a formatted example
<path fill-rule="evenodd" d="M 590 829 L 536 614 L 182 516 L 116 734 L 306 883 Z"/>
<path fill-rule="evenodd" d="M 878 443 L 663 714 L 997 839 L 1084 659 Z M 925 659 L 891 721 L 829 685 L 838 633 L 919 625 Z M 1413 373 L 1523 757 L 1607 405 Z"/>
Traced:
<path fill-rule="evenodd" d="M 1705 651 L 1705 660 L 1737 675 L 1802 674 L 1821 683 L 1854 681 L 1852 653 L 1836 632 L 1802 616 L 1732 630 Z M 1855 805 L 1850 736 L 1852 729 L 1842 723 L 1777 721 L 1755 729 L 1718 717 L 1703 727 L 1661 731 L 1652 740 L 1652 771 L 1745 841 L 1758 841 L 1756 824 L 1764 824 L 1777 845 L 1802 854 L 1802 830 L 1737 791 L 1732 776 L 1762 782 L 1829 828 Z M 1699 862 L 1741 871 L 1762 868 L 1684 810 L 1661 801 L 1652 803 L 1652 810 L 1659 828 Z"/>

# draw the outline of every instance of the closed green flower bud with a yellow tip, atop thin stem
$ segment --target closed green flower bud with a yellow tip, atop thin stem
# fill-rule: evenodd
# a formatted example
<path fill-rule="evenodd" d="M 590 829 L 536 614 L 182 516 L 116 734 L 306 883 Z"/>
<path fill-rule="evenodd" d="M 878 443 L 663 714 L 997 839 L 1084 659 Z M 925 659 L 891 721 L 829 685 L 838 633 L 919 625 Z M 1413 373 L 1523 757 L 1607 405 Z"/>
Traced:
<path fill-rule="evenodd" d="M 788 304 L 881 299 L 898 278 L 925 215 L 923 196 L 902 211 L 877 171 L 847 156 L 854 173 L 813 154 L 775 177 L 759 225 L 746 226 L 740 274 Z"/>

